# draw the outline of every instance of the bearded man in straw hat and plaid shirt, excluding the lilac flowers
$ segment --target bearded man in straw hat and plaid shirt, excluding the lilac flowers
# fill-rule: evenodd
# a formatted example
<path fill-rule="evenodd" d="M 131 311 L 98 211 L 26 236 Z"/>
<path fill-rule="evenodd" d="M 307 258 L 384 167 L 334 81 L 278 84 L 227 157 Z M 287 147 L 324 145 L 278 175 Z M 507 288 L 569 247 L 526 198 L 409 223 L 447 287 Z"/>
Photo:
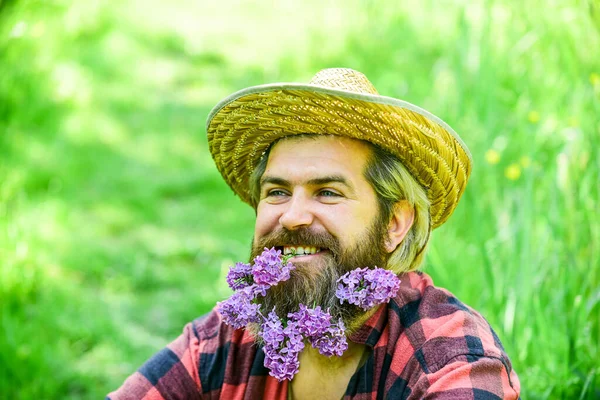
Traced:
<path fill-rule="evenodd" d="M 348 349 L 326 357 L 304 346 L 298 372 L 279 381 L 264 366 L 256 327 L 234 329 L 215 309 L 111 399 L 519 397 L 485 319 L 417 271 L 471 170 L 447 124 L 379 96 L 356 71 L 328 69 L 309 85 L 233 94 L 210 113 L 207 132 L 217 168 L 256 210 L 251 259 L 273 247 L 295 266 L 262 309 L 282 317 L 299 304 L 328 309 L 343 320 Z M 340 304 L 338 279 L 365 266 L 393 271 L 400 289 L 367 311 Z"/>

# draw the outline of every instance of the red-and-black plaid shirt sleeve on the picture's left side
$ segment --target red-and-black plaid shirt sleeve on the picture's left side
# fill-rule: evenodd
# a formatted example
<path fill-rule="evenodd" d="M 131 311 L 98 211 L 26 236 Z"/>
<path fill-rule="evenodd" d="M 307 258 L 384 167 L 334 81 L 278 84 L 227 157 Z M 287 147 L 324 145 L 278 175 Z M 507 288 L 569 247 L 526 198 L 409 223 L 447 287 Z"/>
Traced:
<path fill-rule="evenodd" d="M 156 353 L 107 400 L 200 399 L 199 340 L 192 324 Z"/>

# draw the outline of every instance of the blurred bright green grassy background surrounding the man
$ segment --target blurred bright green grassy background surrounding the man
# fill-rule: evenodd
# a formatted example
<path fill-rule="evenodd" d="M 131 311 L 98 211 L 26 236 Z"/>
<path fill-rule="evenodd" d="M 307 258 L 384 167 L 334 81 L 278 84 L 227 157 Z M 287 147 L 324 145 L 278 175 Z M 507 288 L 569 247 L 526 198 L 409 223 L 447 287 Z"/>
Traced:
<path fill-rule="evenodd" d="M 253 212 L 206 115 L 334 66 L 469 145 L 426 271 L 523 398 L 600 398 L 595 1 L 0 0 L 0 398 L 102 398 L 228 296 Z"/>

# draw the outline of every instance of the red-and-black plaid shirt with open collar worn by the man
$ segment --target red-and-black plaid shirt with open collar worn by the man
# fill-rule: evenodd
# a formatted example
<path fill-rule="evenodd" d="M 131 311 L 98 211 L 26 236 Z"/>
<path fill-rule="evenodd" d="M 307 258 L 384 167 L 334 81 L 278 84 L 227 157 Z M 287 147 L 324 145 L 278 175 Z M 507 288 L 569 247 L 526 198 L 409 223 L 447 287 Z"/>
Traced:
<path fill-rule="evenodd" d="M 476 311 L 421 272 L 349 339 L 369 355 L 344 398 L 517 399 L 520 384 L 500 340 Z M 288 382 L 263 366 L 243 329 L 211 313 L 154 355 L 109 399 L 286 399 Z"/>

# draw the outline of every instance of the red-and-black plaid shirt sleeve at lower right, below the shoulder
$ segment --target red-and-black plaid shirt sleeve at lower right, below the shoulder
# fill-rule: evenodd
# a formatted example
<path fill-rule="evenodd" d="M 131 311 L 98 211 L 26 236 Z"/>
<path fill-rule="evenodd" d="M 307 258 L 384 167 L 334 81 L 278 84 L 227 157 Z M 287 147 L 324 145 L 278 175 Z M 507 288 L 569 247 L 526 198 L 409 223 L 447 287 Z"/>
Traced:
<path fill-rule="evenodd" d="M 457 356 L 435 372 L 423 374 L 417 387 L 421 389 L 417 390 L 418 398 L 423 399 L 520 398 L 517 375 L 501 358 L 495 357 Z"/>

